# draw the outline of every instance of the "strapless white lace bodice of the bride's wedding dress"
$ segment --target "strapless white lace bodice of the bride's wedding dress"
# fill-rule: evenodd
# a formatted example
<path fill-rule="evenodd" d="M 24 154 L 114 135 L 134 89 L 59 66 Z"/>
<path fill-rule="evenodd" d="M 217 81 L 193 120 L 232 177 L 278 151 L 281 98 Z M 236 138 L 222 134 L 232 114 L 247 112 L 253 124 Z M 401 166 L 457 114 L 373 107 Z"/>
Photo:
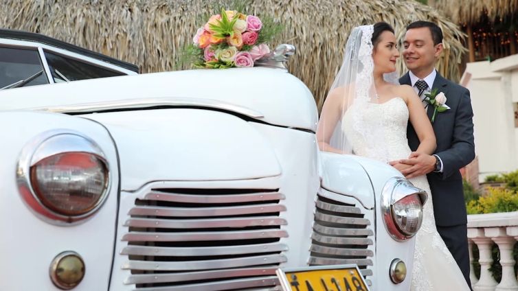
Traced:
<path fill-rule="evenodd" d="M 407 104 L 403 98 L 393 97 L 381 104 L 355 102 L 344 114 L 342 130 L 354 154 L 388 162 L 407 159 L 411 152 L 407 123 Z"/>

